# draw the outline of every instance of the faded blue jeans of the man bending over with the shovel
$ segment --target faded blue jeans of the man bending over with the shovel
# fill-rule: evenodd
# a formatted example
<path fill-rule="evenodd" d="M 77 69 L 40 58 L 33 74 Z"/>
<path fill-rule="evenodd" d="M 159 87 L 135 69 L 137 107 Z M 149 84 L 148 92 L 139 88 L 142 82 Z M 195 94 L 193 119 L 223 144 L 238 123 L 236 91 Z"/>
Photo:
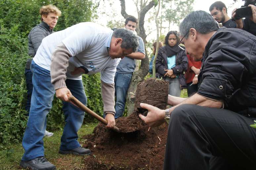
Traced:
<path fill-rule="evenodd" d="M 43 137 L 46 129 L 46 116 L 52 107 L 55 94 L 54 85 L 51 84 L 50 71 L 32 61 L 33 92 L 27 126 L 24 132 L 22 146 L 24 155 L 21 160 L 28 161 L 38 156 L 44 156 Z M 67 80 L 67 88 L 79 101 L 86 105 L 82 80 Z M 61 139 L 61 150 L 78 148 L 77 131 L 83 122 L 84 112 L 72 104 L 65 103 L 63 106 L 65 126 Z"/>

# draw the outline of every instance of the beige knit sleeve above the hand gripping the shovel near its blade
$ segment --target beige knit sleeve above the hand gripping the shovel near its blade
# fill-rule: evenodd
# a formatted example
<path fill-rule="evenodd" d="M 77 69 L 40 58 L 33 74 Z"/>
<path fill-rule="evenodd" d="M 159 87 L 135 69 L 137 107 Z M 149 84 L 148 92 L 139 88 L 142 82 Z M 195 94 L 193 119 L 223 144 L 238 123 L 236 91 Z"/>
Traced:
<path fill-rule="evenodd" d="M 101 81 L 103 111 L 115 113 L 115 86 Z"/>

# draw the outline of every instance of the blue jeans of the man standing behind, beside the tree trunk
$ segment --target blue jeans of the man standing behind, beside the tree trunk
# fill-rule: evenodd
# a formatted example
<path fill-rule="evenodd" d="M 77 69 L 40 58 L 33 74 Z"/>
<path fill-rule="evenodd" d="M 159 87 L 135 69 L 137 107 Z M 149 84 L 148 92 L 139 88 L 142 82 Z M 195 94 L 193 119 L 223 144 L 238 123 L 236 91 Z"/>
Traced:
<path fill-rule="evenodd" d="M 115 73 L 115 119 L 122 117 L 126 102 L 126 93 L 132 79 L 132 73 Z"/>

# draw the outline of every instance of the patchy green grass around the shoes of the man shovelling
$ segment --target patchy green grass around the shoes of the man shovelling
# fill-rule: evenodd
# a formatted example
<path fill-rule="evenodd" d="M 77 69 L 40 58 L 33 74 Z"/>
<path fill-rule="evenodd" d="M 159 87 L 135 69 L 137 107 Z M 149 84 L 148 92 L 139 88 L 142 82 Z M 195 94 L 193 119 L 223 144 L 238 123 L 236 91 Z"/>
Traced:
<path fill-rule="evenodd" d="M 78 131 L 78 141 L 81 145 L 85 142 L 81 137 L 91 134 L 98 123 L 84 124 Z M 59 154 L 59 147 L 61 143 L 62 130 L 54 132 L 52 137 L 44 138 L 44 148 L 46 158 L 53 163 L 59 170 L 82 169 L 84 166 L 85 156 L 76 155 L 62 155 Z M 2 146 L 0 144 L 0 170 L 15 170 L 19 169 L 21 157 L 23 155 L 23 148 L 21 143 L 9 146 Z M 19 169 L 21 170 L 21 169 Z"/>

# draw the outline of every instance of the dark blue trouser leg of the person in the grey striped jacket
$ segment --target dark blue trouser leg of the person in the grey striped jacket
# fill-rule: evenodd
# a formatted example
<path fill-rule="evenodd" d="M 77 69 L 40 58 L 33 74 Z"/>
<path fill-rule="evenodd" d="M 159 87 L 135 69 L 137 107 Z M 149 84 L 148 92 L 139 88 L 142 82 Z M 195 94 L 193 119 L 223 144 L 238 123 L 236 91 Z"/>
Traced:
<path fill-rule="evenodd" d="M 32 76 L 33 76 L 33 73 L 31 72 L 31 70 L 25 68 L 25 77 L 26 77 L 26 86 L 27 86 L 27 103 L 25 106 L 25 110 L 27 111 L 26 116 L 29 115 L 31 95 L 33 91 Z"/>

